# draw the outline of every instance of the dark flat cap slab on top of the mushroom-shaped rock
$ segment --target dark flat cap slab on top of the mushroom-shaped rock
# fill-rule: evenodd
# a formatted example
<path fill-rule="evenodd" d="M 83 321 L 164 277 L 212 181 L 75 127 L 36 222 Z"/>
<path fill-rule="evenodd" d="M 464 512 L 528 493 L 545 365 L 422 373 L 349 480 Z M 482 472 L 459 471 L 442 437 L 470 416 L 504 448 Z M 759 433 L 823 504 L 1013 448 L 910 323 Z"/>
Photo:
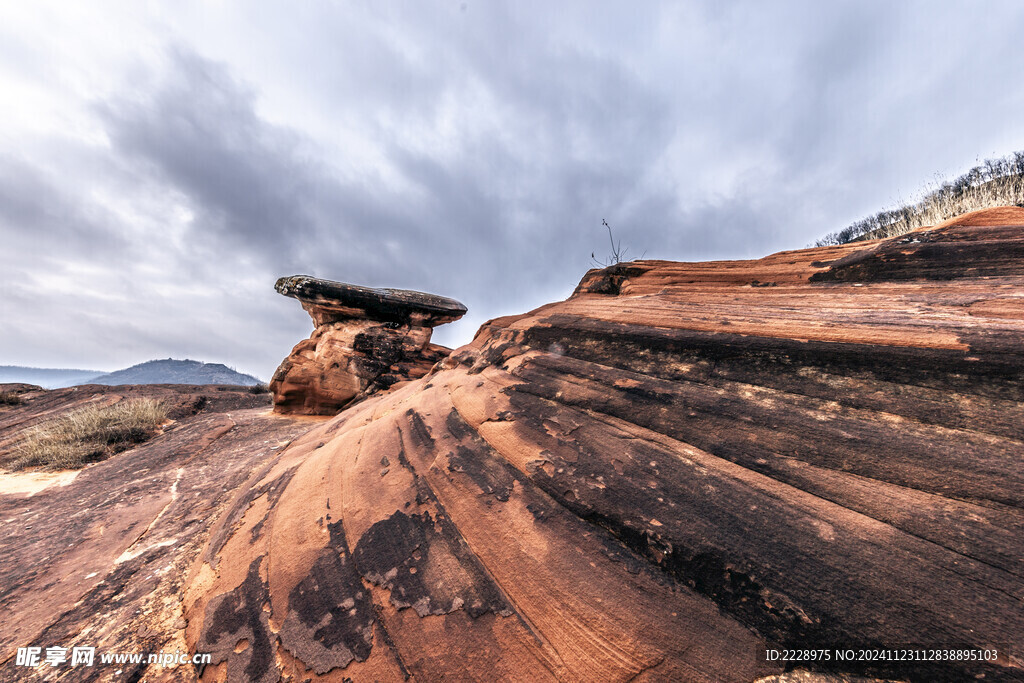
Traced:
<path fill-rule="evenodd" d="M 324 321 L 368 317 L 384 322 L 412 322 L 434 327 L 457 321 L 466 306 L 455 299 L 413 290 L 375 289 L 336 283 L 311 275 L 282 278 L 280 294 L 298 299 L 317 324 Z"/>

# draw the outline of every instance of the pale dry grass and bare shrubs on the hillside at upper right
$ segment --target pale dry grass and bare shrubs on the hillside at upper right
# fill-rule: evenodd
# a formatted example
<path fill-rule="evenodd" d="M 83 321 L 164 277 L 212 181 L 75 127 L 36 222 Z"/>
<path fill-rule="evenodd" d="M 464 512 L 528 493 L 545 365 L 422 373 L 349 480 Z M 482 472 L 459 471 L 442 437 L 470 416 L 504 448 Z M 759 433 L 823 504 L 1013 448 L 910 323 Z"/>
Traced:
<path fill-rule="evenodd" d="M 953 181 L 936 184 L 916 204 L 882 211 L 826 234 L 814 246 L 894 238 L 968 211 L 998 206 L 1024 206 L 1024 152 L 985 161 Z"/>

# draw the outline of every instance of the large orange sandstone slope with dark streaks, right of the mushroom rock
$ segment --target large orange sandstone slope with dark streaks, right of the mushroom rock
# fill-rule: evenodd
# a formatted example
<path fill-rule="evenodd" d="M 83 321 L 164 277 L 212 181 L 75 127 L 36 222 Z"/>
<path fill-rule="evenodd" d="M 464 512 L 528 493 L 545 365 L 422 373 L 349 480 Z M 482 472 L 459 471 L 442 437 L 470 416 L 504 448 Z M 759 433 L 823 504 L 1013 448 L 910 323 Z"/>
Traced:
<path fill-rule="evenodd" d="M 297 439 L 193 567 L 204 680 L 1024 680 L 1024 210 L 639 261 Z M 272 495 L 271 495 L 272 492 Z M 842 674 L 842 676 L 840 676 Z M 804 674 L 802 674 L 804 675 Z"/>

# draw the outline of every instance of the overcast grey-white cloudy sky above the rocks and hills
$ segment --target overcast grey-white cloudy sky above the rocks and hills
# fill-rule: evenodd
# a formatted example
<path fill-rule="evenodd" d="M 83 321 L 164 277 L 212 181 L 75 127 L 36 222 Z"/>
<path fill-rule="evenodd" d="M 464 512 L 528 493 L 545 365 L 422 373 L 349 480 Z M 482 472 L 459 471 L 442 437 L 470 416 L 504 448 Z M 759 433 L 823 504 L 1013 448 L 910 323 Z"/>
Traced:
<path fill-rule="evenodd" d="M 0 7 L 0 365 L 268 379 L 297 273 L 459 299 L 461 345 L 602 219 L 760 257 L 1024 150 L 1020 2 Z"/>

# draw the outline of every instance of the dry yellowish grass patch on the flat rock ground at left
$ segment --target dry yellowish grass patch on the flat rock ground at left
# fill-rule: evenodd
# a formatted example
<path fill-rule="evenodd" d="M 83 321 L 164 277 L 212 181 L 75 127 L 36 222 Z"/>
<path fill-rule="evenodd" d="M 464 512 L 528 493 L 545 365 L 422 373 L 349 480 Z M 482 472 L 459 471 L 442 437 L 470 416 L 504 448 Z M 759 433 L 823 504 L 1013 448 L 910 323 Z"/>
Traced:
<path fill-rule="evenodd" d="M 158 400 L 136 398 L 106 408 L 82 408 L 26 430 L 7 467 L 76 469 L 141 443 L 167 420 Z"/>

